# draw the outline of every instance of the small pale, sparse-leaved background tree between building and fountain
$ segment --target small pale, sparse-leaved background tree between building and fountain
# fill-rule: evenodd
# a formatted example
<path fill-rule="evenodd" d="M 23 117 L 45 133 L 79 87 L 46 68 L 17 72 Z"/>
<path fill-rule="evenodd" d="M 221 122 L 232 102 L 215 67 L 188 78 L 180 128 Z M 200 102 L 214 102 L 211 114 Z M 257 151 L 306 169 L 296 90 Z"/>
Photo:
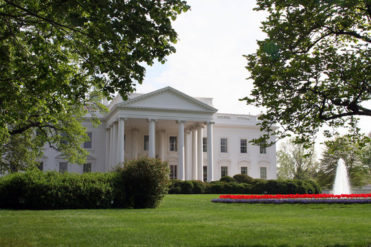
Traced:
<path fill-rule="evenodd" d="M 280 179 L 313 178 L 317 169 L 314 148 L 306 149 L 303 144 L 289 139 L 280 145 L 277 152 L 277 176 Z"/>

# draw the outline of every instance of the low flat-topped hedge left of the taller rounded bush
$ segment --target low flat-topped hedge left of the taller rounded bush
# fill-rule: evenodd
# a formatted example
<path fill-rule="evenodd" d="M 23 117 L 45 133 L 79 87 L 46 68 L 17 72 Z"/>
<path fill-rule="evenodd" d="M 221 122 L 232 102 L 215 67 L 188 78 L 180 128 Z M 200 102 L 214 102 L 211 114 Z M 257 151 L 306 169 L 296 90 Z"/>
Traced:
<path fill-rule="evenodd" d="M 0 207 L 12 209 L 106 209 L 113 174 L 30 171 L 0 178 Z"/>

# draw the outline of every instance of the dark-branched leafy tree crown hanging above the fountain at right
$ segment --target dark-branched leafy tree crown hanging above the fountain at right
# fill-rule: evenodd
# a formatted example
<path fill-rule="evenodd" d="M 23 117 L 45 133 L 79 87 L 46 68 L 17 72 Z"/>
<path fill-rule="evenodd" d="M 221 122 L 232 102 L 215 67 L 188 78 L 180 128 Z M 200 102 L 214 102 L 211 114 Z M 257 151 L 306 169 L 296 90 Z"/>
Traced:
<path fill-rule="evenodd" d="M 257 3 L 255 10 L 269 12 L 262 22 L 267 38 L 258 41 L 256 54 L 245 56 L 254 89 L 241 100 L 267 108 L 259 117 L 262 130 L 272 133 L 278 123 L 278 139 L 295 132 L 297 142 L 311 143 L 328 124 L 346 126 L 360 143 L 370 141 L 359 134 L 357 117 L 371 116 L 362 104 L 371 99 L 371 2 Z"/>

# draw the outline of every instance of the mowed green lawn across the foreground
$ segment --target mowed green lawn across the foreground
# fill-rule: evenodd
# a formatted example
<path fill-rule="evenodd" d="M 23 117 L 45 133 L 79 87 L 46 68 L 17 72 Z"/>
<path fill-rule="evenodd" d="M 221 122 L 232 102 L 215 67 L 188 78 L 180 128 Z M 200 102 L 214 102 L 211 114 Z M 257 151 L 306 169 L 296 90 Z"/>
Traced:
<path fill-rule="evenodd" d="M 0 210 L 0 246 L 371 246 L 371 205 L 212 203 L 159 209 Z"/>

